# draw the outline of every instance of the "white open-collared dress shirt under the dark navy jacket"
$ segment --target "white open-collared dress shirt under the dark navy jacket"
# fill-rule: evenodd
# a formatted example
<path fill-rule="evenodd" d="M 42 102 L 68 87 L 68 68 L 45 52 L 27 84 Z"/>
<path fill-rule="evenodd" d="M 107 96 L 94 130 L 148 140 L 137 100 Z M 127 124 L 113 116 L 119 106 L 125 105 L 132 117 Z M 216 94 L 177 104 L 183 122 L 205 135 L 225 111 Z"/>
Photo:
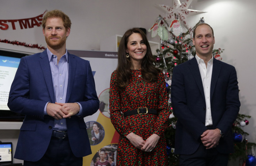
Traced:
<path fill-rule="evenodd" d="M 206 116 L 205 116 L 205 126 L 213 125 L 213 120 L 211 119 L 211 103 L 210 103 L 210 86 L 211 86 L 211 74 L 213 73 L 213 56 L 207 63 L 195 55 L 197 59 L 199 71 L 203 83 L 203 91 L 205 93 L 205 103 L 206 103 Z"/>

